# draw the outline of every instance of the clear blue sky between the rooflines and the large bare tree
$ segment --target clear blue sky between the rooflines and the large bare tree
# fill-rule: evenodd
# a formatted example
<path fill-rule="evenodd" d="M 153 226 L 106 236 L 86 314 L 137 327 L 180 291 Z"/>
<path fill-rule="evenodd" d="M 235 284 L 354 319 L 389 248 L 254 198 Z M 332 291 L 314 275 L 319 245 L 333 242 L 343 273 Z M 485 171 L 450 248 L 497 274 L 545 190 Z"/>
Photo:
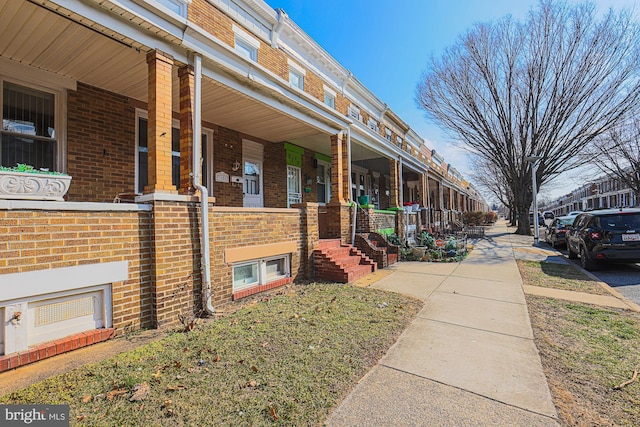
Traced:
<path fill-rule="evenodd" d="M 524 19 L 537 0 L 265 0 L 281 8 L 320 46 L 387 103 L 427 145 L 468 177 L 466 154 L 430 124 L 414 101 L 416 84 L 431 55 L 439 57 L 474 23 L 511 14 Z M 570 1 L 572 2 L 572 1 Z M 595 0 L 599 11 L 633 9 L 640 0 Z M 559 180 L 557 180 L 559 181 Z M 581 184 L 565 176 L 562 184 L 541 189 L 557 197 Z M 550 186 L 551 187 L 551 186 Z"/>

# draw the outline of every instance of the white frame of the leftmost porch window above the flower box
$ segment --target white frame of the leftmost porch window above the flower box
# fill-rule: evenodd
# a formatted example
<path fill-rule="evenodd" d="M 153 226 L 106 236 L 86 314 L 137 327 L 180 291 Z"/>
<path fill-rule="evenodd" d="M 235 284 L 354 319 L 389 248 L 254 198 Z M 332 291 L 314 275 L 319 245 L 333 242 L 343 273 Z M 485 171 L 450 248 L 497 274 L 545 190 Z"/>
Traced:
<path fill-rule="evenodd" d="M 0 61 L 0 65 L 4 65 L 2 61 Z M 17 67 L 19 70 L 19 67 Z M 3 70 L 5 71 L 5 70 Z M 8 70 L 11 71 L 11 70 Z M 20 71 L 17 71 L 18 73 Z M 13 83 L 16 85 L 24 86 L 27 88 L 36 89 L 42 92 L 46 92 L 52 94 L 54 96 L 54 129 L 55 129 L 55 137 L 52 138 L 55 142 L 54 149 L 54 160 L 53 160 L 53 168 L 57 172 L 66 172 L 67 171 L 67 91 L 66 88 L 56 87 L 54 85 L 49 86 L 48 81 L 46 79 L 46 75 L 44 73 L 26 73 L 27 76 L 34 74 L 34 76 L 38 76 L 38 79 L 32 80 L 20 80 L 5 77 L 0 74 L 0 116 L 4 115 L 3 105 L 4 102 L 2 97 L 4 95 L 4 83 Z M 36 83 L 33 83 L 36 81 Z M 15 166 L 15 165 L 14 165 Z"/>

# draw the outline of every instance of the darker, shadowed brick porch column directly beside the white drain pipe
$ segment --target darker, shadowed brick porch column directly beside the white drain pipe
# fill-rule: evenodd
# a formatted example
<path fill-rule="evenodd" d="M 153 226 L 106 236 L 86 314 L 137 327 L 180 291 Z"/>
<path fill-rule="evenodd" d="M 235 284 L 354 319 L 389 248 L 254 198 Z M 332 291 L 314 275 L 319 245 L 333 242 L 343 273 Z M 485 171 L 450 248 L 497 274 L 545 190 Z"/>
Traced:
<path fill-rule="evenodd" d="M 180 194 L 194 194 L 193 172 L 193 109 L 194 74 L 190 65 L 178 69 L 180 78 Z M 203 177 L 204 179 L 204 177 Z"/>

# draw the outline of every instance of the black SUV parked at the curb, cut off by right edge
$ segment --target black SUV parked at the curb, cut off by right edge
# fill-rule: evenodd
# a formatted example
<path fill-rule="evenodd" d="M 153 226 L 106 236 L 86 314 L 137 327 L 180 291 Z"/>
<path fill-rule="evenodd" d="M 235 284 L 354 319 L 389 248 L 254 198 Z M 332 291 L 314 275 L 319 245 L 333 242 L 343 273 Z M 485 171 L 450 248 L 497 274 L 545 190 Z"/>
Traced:
<path fill-rule="evenodd" d="M 579 214 L 567 233 L 569 258 L 582 267 L 602 262 L 640 262 L 640 209 L 605 209 Z"/>

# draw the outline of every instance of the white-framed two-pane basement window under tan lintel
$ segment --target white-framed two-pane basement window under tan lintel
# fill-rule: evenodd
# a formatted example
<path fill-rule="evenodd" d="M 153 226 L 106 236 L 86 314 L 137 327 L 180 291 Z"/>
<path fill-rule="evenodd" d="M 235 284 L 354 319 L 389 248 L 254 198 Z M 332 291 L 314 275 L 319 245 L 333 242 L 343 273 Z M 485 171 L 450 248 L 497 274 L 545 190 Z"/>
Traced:
<path fill-rule="evenodd" d="M 291 276 L 289 255 L 262 258 L 233 266 L 233 292 Z"/>

